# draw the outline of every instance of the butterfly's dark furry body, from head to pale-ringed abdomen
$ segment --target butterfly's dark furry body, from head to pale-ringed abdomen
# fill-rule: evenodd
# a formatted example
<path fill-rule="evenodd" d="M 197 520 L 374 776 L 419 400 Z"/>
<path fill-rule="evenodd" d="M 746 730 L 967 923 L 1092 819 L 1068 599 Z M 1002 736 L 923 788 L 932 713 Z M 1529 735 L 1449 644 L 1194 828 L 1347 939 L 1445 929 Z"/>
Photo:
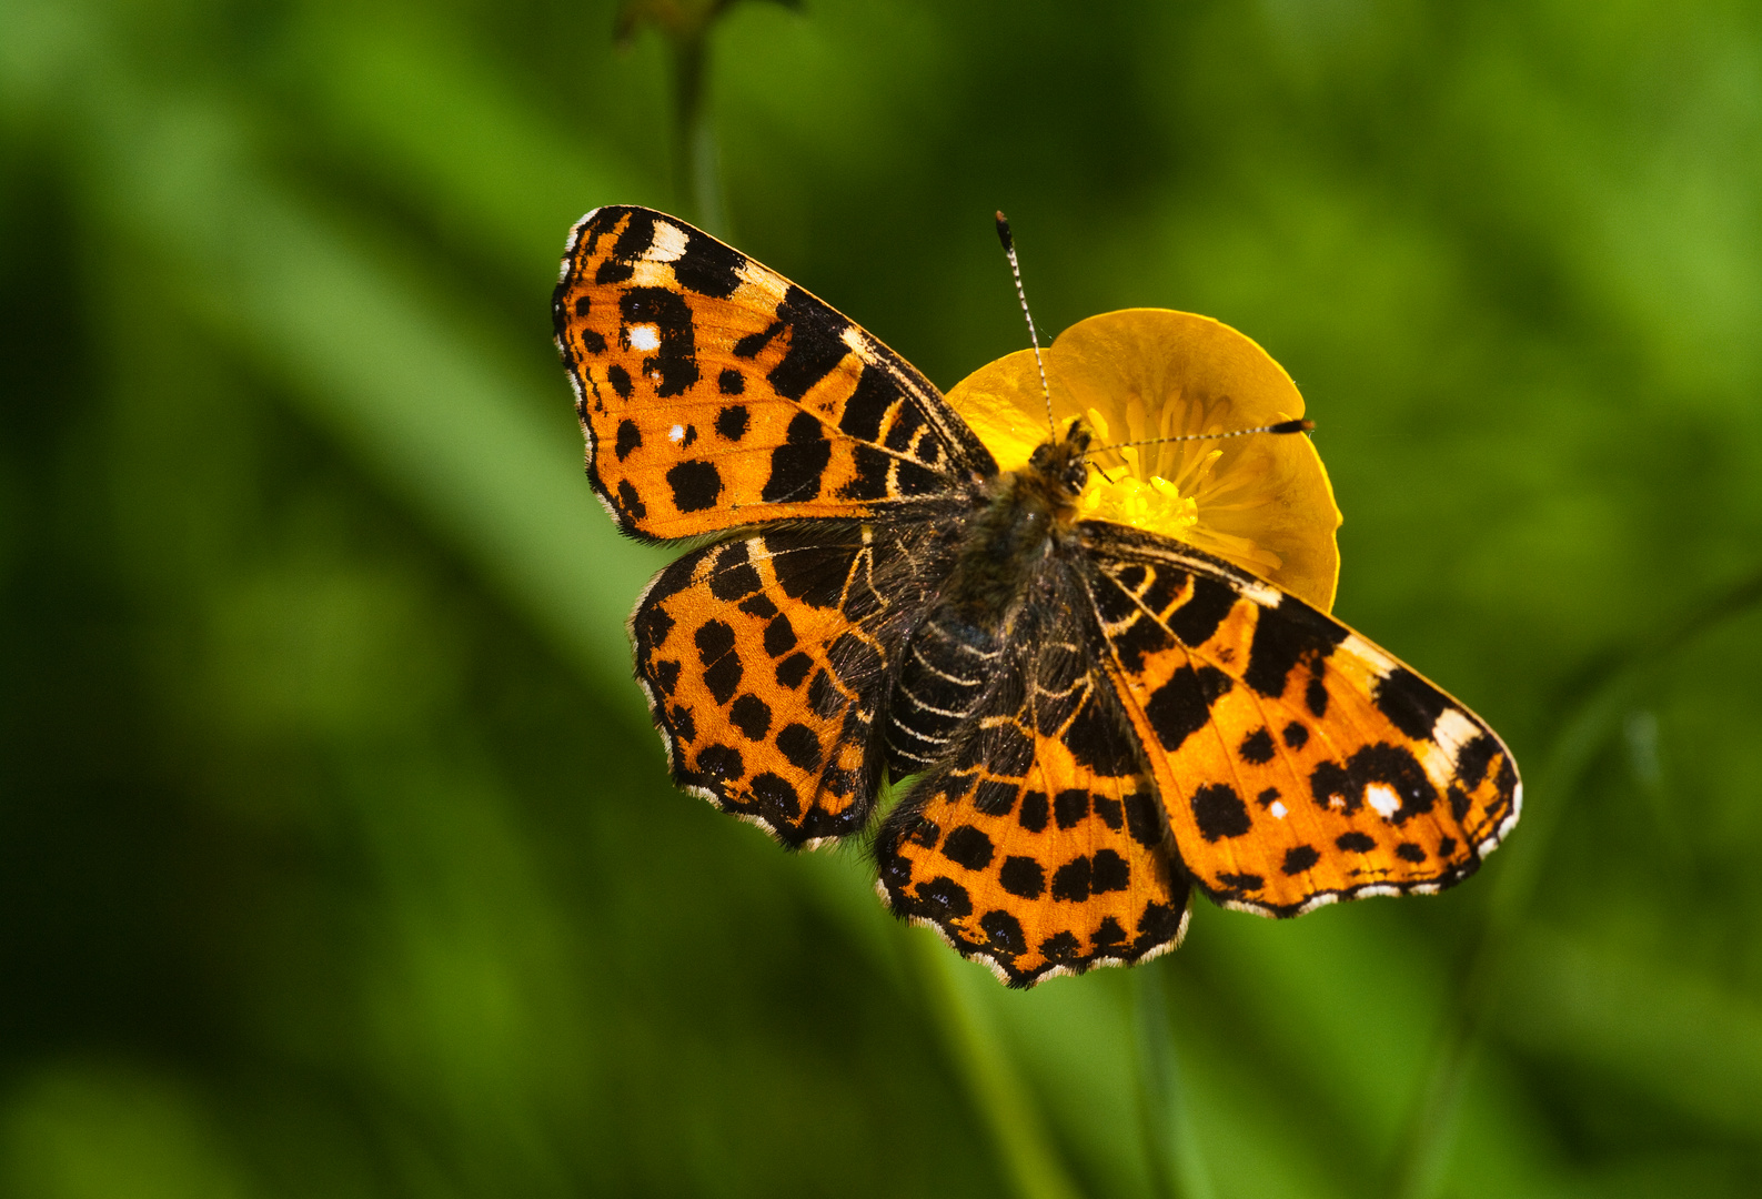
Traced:
<path fill-rule="evenodd" d="M 999 678 L 1010 627 L 1040 595 L 1059 551 L 1075 549 L 1077 497 L 1087 481 L 1089 431 L 1040 445 L 1027 467 L 974 495 L 953 570 L 911 637 L 888 720 L 895 776 L 934 766 Z"/>

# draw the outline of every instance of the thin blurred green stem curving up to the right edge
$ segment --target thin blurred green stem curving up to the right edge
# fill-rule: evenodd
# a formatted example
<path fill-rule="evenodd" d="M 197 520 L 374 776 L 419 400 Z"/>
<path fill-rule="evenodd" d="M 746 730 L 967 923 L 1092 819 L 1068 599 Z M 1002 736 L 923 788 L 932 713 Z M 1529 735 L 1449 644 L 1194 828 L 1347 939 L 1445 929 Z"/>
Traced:
<path fill-rule="evenodd" d="M 1529 910 L 1549 847 L 1596 754 L 1614 736 L 1635 697 L 1677 651 L 1758 604 L 1762 574 L 1700 606 L 1674 630 L 1607 669 L 1554 738 L 1529 791 L 1531 799 L 1544 798 L 1551 803 L 1531 803 L 1524 813 L 1522 835 L 1507 850 L 1508 857 L 1487 901 L 1485 921 L 1468 956 L 1462 986 L 1457 988 L 1455 1009 L 1438 1039 L 1425 1088 L 1401 1137 L 1390 1188 L 1396 1199 L 1431 1199 L 1443 1183 L 1468 1078 L 1503 991 L 1507 947 Z"/>

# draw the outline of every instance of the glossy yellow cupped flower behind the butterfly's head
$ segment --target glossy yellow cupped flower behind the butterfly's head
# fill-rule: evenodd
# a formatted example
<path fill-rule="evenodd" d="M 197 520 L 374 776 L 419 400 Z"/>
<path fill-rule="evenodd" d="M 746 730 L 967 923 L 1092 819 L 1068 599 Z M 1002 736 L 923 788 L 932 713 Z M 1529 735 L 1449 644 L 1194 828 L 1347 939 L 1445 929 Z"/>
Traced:
<path fill-rule="evenodd" d="M 1094 444 L 1228 433 L 1304 414 L 1297 384 L 1230 326 L 1166 308 L 1089 317 L 1045 349 L 1059 431 L 1082 417 Z M 1047 440 L 1034 352 L 973 371 L 948 393 L 1003 470 Z M 1085 519 L 1119 521 L 1218 555 L 1329 611 L 1339 509 L 1304 435 L 1255 433 L 1121 447 L 1089 460 Z"/>

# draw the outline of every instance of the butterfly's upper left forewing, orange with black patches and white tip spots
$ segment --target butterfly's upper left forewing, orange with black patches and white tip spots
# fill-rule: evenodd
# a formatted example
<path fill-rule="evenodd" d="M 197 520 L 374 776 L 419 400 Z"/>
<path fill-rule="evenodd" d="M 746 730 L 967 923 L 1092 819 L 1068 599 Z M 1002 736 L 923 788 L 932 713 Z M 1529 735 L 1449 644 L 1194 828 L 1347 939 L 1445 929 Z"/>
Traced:
<path fill-rule="evenodd" d="M 904 359 L 775 271 L 647 208 L 576 224 L 553 299 L 618 526 L 696 537 L 909 514 L 997 467 Z"/>

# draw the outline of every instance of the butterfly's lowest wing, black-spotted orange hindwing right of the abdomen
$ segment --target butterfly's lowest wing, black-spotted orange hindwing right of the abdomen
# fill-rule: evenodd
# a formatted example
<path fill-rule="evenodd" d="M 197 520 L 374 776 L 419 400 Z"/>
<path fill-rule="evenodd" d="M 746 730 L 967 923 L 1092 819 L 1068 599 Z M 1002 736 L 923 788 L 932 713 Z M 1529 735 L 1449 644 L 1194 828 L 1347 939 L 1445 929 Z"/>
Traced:
<path fill-rule="evenodd" d="M 1172 949 L 1188 923 L 1151 776 L 1075 604 L 1029 607 L 964 739 L 888 813 L 881 894 L 1011 986 Z"/>

